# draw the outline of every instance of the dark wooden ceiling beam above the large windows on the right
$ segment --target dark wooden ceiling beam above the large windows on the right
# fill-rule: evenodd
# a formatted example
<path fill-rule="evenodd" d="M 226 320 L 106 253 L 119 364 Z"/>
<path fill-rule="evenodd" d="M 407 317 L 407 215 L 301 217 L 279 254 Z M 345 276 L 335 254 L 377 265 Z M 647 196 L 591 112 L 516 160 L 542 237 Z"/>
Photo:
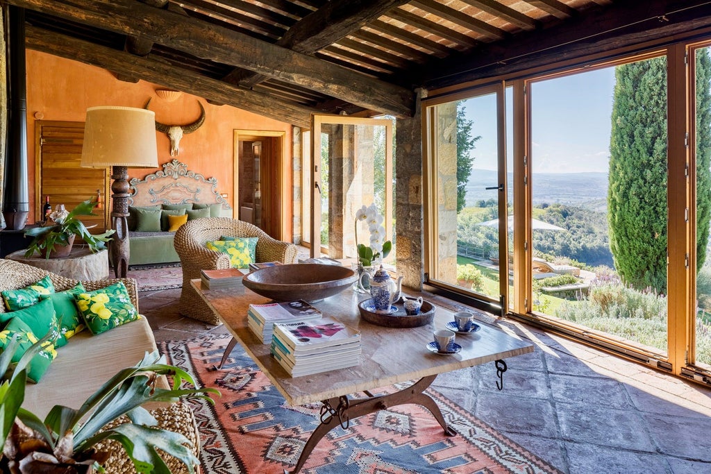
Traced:
<path fill-rule="evenodd" d="M 626 1 L 590 9 L 558 26 L 523 32 L 499 43 L 483 45 L 457 56 L 430 63 L 423 70 L 428 90 L 464 82 L 515 75 L 552 63 L 606 53 L 678 33 L 711 26 L 706 0 Z"/>

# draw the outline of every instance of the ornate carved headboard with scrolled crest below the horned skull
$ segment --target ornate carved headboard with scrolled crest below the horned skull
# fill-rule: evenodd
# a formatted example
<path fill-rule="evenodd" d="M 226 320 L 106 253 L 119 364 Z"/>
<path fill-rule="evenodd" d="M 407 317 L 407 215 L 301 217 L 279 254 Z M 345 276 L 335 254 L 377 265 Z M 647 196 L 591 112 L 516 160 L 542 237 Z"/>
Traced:
<path fill-rule="evenodd" d="M 225 210 L 232 207 L 218 192 L 216 178 L 188 171 L 188 165 L 173 159 L 163 165 L 163 171 L 156 171 L 143 179 L 129 181 L 131 197 L 129 205 L 144 206 L 156 204 L 202 203 L 223 205 Z M 231 212 L 229 213 L 231 215 Z"/>

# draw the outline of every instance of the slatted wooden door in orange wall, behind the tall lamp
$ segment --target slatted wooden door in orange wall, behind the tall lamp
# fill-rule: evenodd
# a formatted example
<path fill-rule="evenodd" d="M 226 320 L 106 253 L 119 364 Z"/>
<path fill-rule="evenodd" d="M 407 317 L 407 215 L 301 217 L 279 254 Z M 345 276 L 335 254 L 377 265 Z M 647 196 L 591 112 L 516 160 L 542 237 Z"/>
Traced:
<path fill-rule="evenodd" d="M 84 122 L 36 123 L 35 144 L 35 203 L 36 219 L 41 220 L 45 198 L 54 209 L 63 204 L 72 210 L 84 200 L 101 196 L 101 205 L 93 216 L 81 217 L 92 234 L 104 232 L 109 226 L 108 168 L 82 168 Z"/>

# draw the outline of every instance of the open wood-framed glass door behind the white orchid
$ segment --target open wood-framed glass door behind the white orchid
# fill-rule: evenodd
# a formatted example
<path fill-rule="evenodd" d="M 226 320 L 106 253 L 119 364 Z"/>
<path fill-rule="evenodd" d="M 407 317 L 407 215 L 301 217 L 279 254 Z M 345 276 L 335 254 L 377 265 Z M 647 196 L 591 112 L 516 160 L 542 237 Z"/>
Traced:
<path fill-rule="evenodd" d="M 371 246 L 369 227 L 356 222 L 363 206 L 375 205 L 383 217 L 382 240 L 395 244 L 392 124 L 389 119 L 313 117 L 311 257 L 323 252 L 335 259 L 355 258 L 357 244 Z M 372 248 L 378 252 L 378 244 Z M 385 262 L 394 257 L 390 252 Z"/>

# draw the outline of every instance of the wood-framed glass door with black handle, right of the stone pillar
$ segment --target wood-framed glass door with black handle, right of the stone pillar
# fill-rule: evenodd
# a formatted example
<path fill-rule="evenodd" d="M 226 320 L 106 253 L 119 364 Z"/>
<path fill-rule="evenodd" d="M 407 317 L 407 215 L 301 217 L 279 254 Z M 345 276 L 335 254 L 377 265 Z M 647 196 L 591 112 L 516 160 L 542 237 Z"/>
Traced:
<path fill-rule="evenodd" d="M 513 263 L 503 84 L 428 104 L 426 119 L 429 283 L 503 311 Z"/>

